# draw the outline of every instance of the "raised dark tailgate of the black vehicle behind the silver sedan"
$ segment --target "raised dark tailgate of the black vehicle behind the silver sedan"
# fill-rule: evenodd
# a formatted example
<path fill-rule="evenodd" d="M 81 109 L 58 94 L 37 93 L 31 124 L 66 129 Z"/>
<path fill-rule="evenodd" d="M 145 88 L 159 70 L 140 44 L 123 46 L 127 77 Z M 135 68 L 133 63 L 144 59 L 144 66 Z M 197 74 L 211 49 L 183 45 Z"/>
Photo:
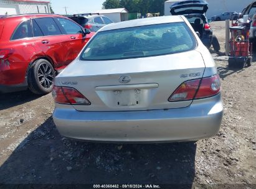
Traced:
<path fill-rule="evenodd" d="M 208 3 L 204 0 L 181 1 L 171 5 L 172 15 L 183 14 L 205 14 L 208 10 Z"/>

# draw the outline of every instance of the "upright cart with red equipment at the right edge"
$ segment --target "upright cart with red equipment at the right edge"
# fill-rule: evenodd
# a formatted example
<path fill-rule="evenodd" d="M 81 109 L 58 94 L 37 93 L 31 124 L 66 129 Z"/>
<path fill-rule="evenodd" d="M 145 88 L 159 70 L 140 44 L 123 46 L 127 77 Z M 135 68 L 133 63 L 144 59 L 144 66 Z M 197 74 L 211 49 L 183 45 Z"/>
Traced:
<path fill-rule="evenodd" d="M 249 41 L 250 23 L 232 23 L 229 41 L 229 67 L 244 68 L 252 63 L 252 44 Z"/>

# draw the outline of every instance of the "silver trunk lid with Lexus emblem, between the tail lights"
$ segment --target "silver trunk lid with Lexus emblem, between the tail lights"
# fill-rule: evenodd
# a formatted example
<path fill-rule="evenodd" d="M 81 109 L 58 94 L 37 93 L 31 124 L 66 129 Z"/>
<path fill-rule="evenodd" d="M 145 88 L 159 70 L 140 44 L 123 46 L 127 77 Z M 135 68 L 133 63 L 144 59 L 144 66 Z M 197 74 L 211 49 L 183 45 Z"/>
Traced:
<path fill-rule="evenodd" d="M 77 59 L 57 76 L 55 85 L 75 88 L 91 102 L 73 105 L 78 111 L 184 108 L 192 100 L 169 102 L 168 98 L 184 81 L 202 78 L 204 70 L 196 50 L 127 60 Z"/>

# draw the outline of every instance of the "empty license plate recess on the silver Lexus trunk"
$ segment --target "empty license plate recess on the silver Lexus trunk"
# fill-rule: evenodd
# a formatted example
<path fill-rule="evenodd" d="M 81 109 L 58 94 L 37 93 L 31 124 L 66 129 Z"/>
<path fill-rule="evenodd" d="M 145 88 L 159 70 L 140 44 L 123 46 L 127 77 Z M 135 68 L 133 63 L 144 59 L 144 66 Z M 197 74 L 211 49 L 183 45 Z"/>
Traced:
<path fill-rule="evenodd" d="M 117 106 L 136 106 L 140 104 L 141 90 L 113 90 Z"/>

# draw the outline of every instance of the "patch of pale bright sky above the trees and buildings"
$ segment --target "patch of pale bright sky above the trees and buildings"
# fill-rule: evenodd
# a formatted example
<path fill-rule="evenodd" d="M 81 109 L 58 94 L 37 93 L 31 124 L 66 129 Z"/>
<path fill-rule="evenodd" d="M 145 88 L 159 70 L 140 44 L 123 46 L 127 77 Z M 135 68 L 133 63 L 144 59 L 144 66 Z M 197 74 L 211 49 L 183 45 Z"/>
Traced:
<path fill-rule="evenodd" d="M 64 7 L 67 8 L 67 14 L 90 13 L 102 9 L 102 3 L 105 0 L 50 0 L 55 14 L 65 14 Z"/>

